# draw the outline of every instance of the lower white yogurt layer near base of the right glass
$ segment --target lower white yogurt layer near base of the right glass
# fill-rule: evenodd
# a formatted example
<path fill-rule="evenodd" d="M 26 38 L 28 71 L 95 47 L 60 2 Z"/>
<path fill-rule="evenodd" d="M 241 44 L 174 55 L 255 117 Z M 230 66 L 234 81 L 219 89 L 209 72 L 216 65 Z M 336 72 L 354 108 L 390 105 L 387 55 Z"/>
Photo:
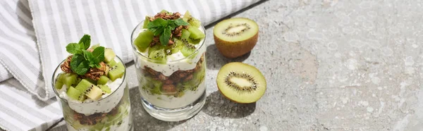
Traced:
<path fill-rule="evenodd" d="M 196 91 L 187 89 L 185 94 L 181 97 L 166 96 L 164 94 L 149 94 L 144 89 L 140 89 L 142 97 L 154 106 L 161 108 L 180 108 L 188 106 L 194 101 L 200 98 L 200 96 L 206 91 L 205 80 L 198 85 Z"/>

